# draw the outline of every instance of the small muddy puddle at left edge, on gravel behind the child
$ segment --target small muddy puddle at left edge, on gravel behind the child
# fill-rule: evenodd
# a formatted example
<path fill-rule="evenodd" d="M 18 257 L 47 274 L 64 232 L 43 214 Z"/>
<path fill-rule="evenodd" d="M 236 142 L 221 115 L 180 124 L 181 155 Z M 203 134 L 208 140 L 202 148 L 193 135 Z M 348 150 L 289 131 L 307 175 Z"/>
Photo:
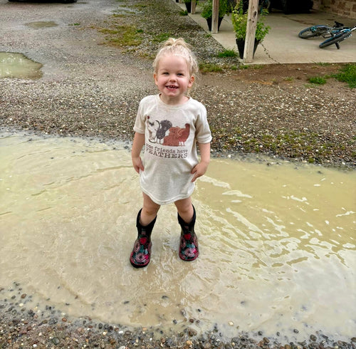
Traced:
<path fill-rule="evenodd" d="M 36 80 L 42 77 L 42 66 L 22 53 L 0 52 L 0 78 Z"/>

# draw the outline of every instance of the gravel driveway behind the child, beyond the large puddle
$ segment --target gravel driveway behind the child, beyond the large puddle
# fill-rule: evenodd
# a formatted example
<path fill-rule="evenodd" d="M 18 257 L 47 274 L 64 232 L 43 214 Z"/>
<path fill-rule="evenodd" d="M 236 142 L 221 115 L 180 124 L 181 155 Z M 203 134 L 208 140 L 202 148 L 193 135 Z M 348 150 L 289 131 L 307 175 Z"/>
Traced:
<path fill-rule="evenodd" d="M 179 16 L 180 9 L 173 1 L 118 4 L 119 10 L 112 8 L 113 16 L 99 11 L 93 19 L 90 11 L 85 11 L 87 16 L 84 11 L 74 13 L 73 19 L 68 19 L 73 25 L 66 27 L 69 36 L 63 38 L 59 31 L 50 46 L 49 29 L 32 36 L 26 31 L 26 40 L 19 43 L 19 38 L 4 28 L 9 31 L 2 43 L 4 51 L 20 47 L 21 52 L 44 62 L 44 75 L 40 80 L 1 80 L 0 126 L 131 140 L 140 99 L 157 93 L 151 63 L 159 41 L 183 36 L 205 67 L 214 64 L 223 68 L 217 73 L 203 71 L 192 93 L 208 110 L 213 155 L 257 153 L 355 168 L 355 91 L 333 78 L 325 85 L 308 84 L 310 76 L 330 75 L 342 65 L 243 69 L 236 58 L 218 58 L 223 48 L 188 16 Z M 75 11 L 75 6 L 70 11 Z M 162 21 L 164 16 L 167 19 Z M 132 28 L 142 42 L 122 46 L 121 36 Z M 33 45 L 40 46 L 41 54 L 31 48 Z"/>

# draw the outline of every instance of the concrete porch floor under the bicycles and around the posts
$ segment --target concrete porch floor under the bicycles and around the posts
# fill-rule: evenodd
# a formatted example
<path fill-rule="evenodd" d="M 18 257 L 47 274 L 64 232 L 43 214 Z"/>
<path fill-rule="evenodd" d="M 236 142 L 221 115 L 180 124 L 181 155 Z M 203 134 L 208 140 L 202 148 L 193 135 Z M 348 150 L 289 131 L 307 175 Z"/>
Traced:
<path fill-rule="evenodd" d="M 178 4 L 185 9 L 184 4 Z M 197 6 L 196 14 L 189 14 L 204 30 L 208 31 L 206 20 L 200 15 Z M 345 26 L 354 26 L 356 19 L 347 19 L 325 12 L 311 11 L 310 14 L 284 14 L 273 10 L 266 17 L 266 24 L 271 30 L 261 45 L 258 45 L 253 64 L 270 63 L 350 63 L 356 62 L 356 35 L 340 43 L 340 50 L 335 45 L 319 48 L 323 38 L 303 40 L 298 33 L 315 24 L 334 24 L 338 21 Z M 209 32 L 209 31 L 208 31 Z M 209 32 L 210 33 L 210 32 Z M 211 34 L 226 49 L 237 51 L 231 16 L 225 16 L 219 33 Z"/>

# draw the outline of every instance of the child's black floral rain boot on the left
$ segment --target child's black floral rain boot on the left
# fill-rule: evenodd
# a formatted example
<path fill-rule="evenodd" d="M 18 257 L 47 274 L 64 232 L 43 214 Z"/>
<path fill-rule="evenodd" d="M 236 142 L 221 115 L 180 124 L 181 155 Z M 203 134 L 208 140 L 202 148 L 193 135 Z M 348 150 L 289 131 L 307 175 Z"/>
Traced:
<path fill-rule="evenodd" d="M 136 227 L 137 227 L 137 239 L 130 255 L 130 263 L 135 268 L 143 268 L 150 263 L 151 258 L 151 233 L 153 226 L 155 225 L 156 218 L 147 226 L 140 224 L 141 211 L 137 214 Z"/>

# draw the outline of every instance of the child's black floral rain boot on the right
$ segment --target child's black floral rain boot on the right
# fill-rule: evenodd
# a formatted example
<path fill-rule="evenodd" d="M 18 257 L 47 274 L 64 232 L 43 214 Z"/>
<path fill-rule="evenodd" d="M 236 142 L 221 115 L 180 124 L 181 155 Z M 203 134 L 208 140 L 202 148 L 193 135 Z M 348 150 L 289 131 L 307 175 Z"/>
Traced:
<path fill-rule="evenodd" d="M 194 214 L 190 223 L 184 222 L 182 217 L 178 214 L 178 222 L 182 227 L 180 235 L 179 257 L 183 261 L 194 261 L 199 256 L 198 238 L 194 232 L 194 224 L 196 219 L 195 208 L 193 206 Z"/>

